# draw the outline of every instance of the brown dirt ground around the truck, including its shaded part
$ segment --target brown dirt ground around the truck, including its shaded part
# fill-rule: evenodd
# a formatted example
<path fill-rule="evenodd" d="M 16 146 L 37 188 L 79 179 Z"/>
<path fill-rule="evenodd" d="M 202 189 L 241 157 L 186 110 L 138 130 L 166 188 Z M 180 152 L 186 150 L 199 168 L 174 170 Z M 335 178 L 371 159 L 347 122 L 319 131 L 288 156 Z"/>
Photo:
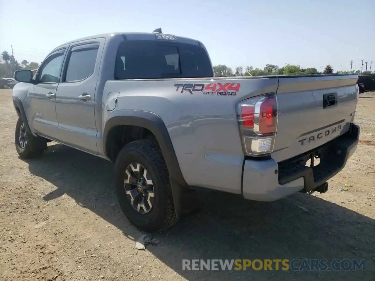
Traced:
<path fill-rule="evenodd" d="M 0 280 L 375 280 L 375 94 L 362 96 L 357 152 L 327 193 L 271 203 L 212 193 L 139 251 L 112 164 L 53 142 L 20 160 L 11 90 L 0 90 Z M 365 259 L 365 271 L 182 270 L 182 259 L 301 258 Z"/>

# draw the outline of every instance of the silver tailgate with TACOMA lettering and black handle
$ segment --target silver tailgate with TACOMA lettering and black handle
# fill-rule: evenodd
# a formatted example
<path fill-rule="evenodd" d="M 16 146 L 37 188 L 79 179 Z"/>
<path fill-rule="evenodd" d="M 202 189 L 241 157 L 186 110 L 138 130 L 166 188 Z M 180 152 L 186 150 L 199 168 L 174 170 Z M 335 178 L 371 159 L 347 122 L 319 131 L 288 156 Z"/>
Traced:
<path fill-rule="evenodd" d="M 272 157 L 282 161 L 349 130 L 357 75 L 279 76 L 278 124 Z"/>

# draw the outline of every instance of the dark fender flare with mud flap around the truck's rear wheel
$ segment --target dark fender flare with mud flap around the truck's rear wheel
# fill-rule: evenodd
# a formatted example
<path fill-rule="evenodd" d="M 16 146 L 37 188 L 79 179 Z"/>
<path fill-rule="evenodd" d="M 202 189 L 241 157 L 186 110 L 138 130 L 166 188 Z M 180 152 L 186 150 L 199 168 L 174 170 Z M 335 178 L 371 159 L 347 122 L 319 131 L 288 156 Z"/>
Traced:
<path fill-rule="evenodd" d="M 166 167 L 171 181 L 174 210 L 177 217 L 181 215 L 182 193 L 187 187 L 186 181 L 181 173 L 171 138 L 163 120 L 152 112 L 138 110 L 115 111 L 115 116 L 110 117 L 105 123 L 103 131 L 103 149 L 107 155 L 106 146 L 110 130 L 119 125 L 130 125 L 143 127 L 152 132 L 159 143 Z"/>

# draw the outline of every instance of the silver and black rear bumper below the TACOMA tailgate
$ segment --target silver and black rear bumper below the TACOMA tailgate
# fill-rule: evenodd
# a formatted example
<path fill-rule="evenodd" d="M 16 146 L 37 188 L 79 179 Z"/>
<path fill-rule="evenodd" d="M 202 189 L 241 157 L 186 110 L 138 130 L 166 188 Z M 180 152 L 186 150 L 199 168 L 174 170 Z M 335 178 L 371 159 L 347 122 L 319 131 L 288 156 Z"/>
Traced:
<path fill-rule="evenodd" d="M 274 201 L 298 191 L 315 190 L 341 171 L 357 149 L 360 128 L 352 123 L 347 133 L 291 159 L 246 160 L 242 194 L 245 199 Z M 314 167 L 305 166 L 312 155 L 320 156 Z"/>

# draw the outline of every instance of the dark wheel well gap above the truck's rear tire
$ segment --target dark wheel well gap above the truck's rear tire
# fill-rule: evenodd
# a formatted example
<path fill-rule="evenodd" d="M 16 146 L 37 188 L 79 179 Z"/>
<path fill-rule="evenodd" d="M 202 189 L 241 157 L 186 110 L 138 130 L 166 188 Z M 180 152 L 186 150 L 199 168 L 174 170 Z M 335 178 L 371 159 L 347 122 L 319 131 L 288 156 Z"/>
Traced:
<path fill-rule="evenodd" d="M 114 163 L 118 152 L 120 152 L 124 145 L 139 139 L 151 139 L 159 146 L 155 135 L 146 128 L 131 125 L 118 125 L 113 127 L 108 133 L 105 143 L 107 157 Z"/>

